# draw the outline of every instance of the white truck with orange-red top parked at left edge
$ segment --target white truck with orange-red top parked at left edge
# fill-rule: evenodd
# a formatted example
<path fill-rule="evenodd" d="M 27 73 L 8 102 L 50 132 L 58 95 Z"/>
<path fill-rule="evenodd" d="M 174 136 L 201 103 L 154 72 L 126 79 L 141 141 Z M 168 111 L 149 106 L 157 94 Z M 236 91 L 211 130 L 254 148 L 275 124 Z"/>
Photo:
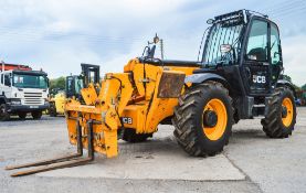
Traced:
<path fill-rule="evenodd" d="M 0 65 L 0 121 L 9 120 L 11 115 L 25 119 L 31 112 L 40 119 L 49 108 L 49 79 L 43 71 L 33 71 L 19 64 Z"/>

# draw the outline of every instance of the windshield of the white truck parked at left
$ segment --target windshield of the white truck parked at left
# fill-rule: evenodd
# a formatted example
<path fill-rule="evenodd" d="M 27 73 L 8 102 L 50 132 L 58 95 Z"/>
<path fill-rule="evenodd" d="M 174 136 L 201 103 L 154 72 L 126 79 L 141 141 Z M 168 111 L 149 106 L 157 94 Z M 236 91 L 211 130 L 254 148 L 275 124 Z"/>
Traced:
<path fill-rule="evenodd" d="M 13 74 L 13 86 L 18 88 L 48 88 L 48 78 L 43 75 Z"/>

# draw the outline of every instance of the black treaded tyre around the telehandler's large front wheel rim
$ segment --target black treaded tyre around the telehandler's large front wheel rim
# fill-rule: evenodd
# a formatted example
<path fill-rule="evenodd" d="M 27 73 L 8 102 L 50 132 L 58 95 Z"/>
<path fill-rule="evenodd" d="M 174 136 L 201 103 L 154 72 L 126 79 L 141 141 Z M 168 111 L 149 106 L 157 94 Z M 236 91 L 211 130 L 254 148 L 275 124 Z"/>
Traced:
<path fill-rule="evenodd" d="M 194 118 L 197 117 L 194 108 L 199 101 L 201 101 L 202 96 L 205 92 L 212 89 L 219 89 L 225 92 L 230 103 L 232 105 L 232 98 L 229 95 L 229 90 L 220 83 L 209 82 L 205 84 L 200 84 L 186 90 L 186 94 L 179 98 L 179 105 L 175 108 L 175 116 L 172 118 L 172 125 L 175 126 L 173 135 L 177 138 L 179 146 L 190 156 L 194 157 L 205 157 L 214 156 L 223 150 L 223 147 L 219 150 L 205 150 L 198 142 L 197 126 L 194 125 Z M 231 106 L 232 107 L 232 106 Z M 232 108 L 233 110 L 233 108 Z M 233 114 L 231 114 L 232 116 Z M 233 122 L 233 116 L 231 118 L 231 124 Z M 231 130 L 230 130 L 231 135 Z M 225 140 L 225 146 L 229 143 L 229 138 Z"/>

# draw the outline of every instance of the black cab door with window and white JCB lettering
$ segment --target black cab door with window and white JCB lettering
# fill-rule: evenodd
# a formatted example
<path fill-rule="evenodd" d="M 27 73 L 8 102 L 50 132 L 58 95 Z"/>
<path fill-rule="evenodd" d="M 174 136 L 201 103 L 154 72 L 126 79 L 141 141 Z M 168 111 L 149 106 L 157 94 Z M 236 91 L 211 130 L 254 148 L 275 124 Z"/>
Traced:
<path fill-rule="evenodd" d="M 261 18 L 250 24 L 242 63 L 245 90 L 249 95 L 267 94 L 271 88 L 270 24 Z"/>

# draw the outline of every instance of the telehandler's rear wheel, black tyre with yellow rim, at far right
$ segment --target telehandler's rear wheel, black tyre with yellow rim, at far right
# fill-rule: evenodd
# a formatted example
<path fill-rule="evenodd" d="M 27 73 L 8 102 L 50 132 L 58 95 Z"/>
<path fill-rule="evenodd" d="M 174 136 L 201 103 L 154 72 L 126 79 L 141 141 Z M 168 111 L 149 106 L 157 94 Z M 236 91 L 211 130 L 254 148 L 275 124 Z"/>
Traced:
<path fill-rule="evenodd" d="M 270 138 L 287 138 L 296 122 L 294 96 L 288 88 L 276 88 L 262 119 L 263 130 Z"/>

